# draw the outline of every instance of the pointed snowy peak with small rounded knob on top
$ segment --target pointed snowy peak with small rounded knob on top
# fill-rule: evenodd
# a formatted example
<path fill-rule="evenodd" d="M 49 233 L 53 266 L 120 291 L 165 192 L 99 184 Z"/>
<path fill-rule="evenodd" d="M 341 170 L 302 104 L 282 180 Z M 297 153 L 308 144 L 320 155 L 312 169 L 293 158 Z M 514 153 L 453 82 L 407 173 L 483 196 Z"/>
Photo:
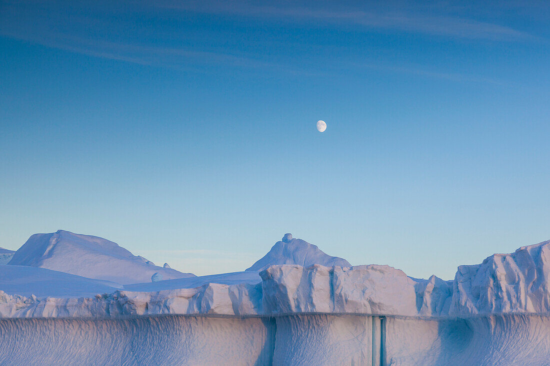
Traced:
<path fill-rule="evenodd" d="M 321 264 L 327 267 L 335 265 L 351 267 L 347 260 L 340 257 L 331 257 L 316 245 L 301 239 L 293 239 L 290 233 L 285 234 L 283 239 L 276 242 L 265 256 L 246 270 L 261 271 L 274 264 L 299 264 L 303 267 L 309 267 L 313 264 Z"/>

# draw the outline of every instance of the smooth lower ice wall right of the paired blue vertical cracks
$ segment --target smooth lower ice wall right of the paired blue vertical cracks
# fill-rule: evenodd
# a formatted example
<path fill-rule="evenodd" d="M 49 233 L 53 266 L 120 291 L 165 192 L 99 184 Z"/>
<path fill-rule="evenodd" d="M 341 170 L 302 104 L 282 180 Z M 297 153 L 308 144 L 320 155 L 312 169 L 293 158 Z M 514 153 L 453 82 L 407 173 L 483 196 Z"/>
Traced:
<path fill-rule="evenodd" d="M 550 318 L 478 315 L 465 319 L 387 317 L 386 365 L 550 365 Z"/>

